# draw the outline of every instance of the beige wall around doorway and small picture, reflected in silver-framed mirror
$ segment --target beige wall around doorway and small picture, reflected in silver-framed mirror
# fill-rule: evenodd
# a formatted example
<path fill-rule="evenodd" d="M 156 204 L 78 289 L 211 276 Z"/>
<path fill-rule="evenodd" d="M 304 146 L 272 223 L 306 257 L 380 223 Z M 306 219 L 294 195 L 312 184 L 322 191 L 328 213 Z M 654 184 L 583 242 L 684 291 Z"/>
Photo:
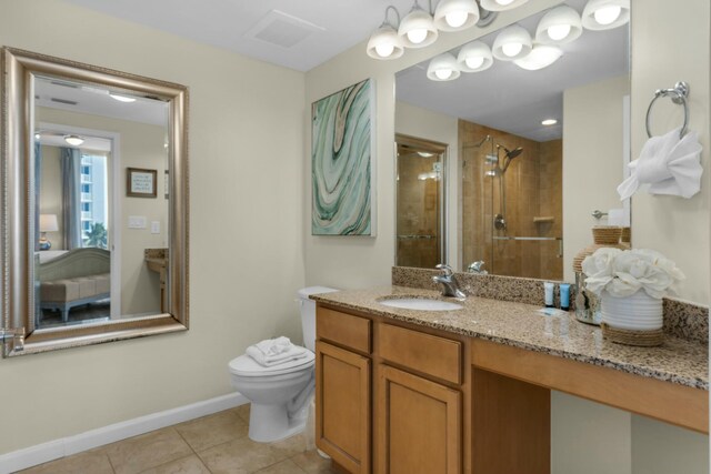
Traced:
<path fill-rule="evenodd" d="M 168 246 L 168 201 L 164 199 L 163 172 L 168 155 L 163 147 L 166 128 L 147 123 L 130 122 L 107 117 L 89 115 L 66 110 L 40 108 L 38 122 L 49 122 L 68 127 L 91 129 L 119 135 L 119 150 L 108 162 L 109 182 L 118 185 L 120 219 L 118 229 L 111 229 L 110 236 L 120 242 L 121 313 L 147 314 L 160 312 L 160 281 L 157 272 L 148 270 L 143 256 L 146 249 Z M 113 160 L 119 159 L 119 171 L 114 175 Z M 131 198 L 126 195 L 127 168 L 157 171 L 157 196 Z M 109 185 L 109 200 L 113 198 L 113 185 Z M 60 201 L 61 202 L 61 198 Z M 114 210 L 109 208 L 109 215 Z M 129 216 L 144 216 L 146 229 L 129 229 Z M 151 233 L 151 222 L 160 222 L 159 234 Z"/>

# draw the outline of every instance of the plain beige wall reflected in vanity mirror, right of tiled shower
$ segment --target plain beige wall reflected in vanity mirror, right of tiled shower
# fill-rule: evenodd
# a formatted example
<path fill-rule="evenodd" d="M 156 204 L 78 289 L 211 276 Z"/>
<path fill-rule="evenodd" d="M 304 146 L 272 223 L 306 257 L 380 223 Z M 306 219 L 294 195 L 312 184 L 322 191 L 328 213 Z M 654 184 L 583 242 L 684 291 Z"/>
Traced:
<path fill-rule="evenodd" d="M 607 218 L 598 221 L 592 211 L 622 208 L 617 186 L 623 170 L 622 98 L 629 93 L 628 75 L 563 93 L 563 279 L 568 282 L 575 281 L 573 258 L 592 243 L 592 226 L 607 224 Z M 635 218 L 637 200 L 635 195 Z"/>

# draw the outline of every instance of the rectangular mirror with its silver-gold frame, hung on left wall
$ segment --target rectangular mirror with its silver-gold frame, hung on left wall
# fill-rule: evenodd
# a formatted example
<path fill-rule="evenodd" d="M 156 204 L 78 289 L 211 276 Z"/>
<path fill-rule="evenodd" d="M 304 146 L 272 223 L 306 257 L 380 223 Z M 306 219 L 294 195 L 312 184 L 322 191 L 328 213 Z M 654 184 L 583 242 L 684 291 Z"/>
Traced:
<path fill-rule="evenodd" d="M 3 355 L 188 329 L 186 87 L 2 49 Z"/>

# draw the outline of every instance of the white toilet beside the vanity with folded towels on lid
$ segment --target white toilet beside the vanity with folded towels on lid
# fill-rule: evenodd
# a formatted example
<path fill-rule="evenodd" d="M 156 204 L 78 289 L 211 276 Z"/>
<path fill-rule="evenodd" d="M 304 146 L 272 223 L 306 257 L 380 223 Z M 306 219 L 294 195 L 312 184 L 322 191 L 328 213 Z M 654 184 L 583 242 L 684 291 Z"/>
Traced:
<path fill-rule="evenodd" d="M 316 387 L 316 302 L 309 295 L 330 293 L 331 288 L 299 290 L 306 357 L 264 367 L 247 354 L 230 361 L 230 382 L 252 402 L 249 437 L 258 442 L 283 440 L 303 431 Z"/>

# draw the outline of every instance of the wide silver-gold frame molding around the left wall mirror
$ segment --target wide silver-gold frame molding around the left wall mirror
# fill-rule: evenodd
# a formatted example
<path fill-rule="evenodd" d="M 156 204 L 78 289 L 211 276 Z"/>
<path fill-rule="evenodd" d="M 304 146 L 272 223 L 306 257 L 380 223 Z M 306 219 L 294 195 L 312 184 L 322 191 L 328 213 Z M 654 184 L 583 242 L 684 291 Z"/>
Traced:
<path fill-rule="evenodd" d="M 67 78 L 117 91 L 144 94 L 169 107 L 168 313 L 108 323 L 34 331 L 34 206 L 32 75 Z M 189 326 L 188 88 L 142 75 L 3 47 L 0 51 L 3 148 L 0 181 L 1 325 L 24 337 L 2 344 L 3 357 L 187 331 Z M 17 337 L 16 337 L 17 339 Z"/>

